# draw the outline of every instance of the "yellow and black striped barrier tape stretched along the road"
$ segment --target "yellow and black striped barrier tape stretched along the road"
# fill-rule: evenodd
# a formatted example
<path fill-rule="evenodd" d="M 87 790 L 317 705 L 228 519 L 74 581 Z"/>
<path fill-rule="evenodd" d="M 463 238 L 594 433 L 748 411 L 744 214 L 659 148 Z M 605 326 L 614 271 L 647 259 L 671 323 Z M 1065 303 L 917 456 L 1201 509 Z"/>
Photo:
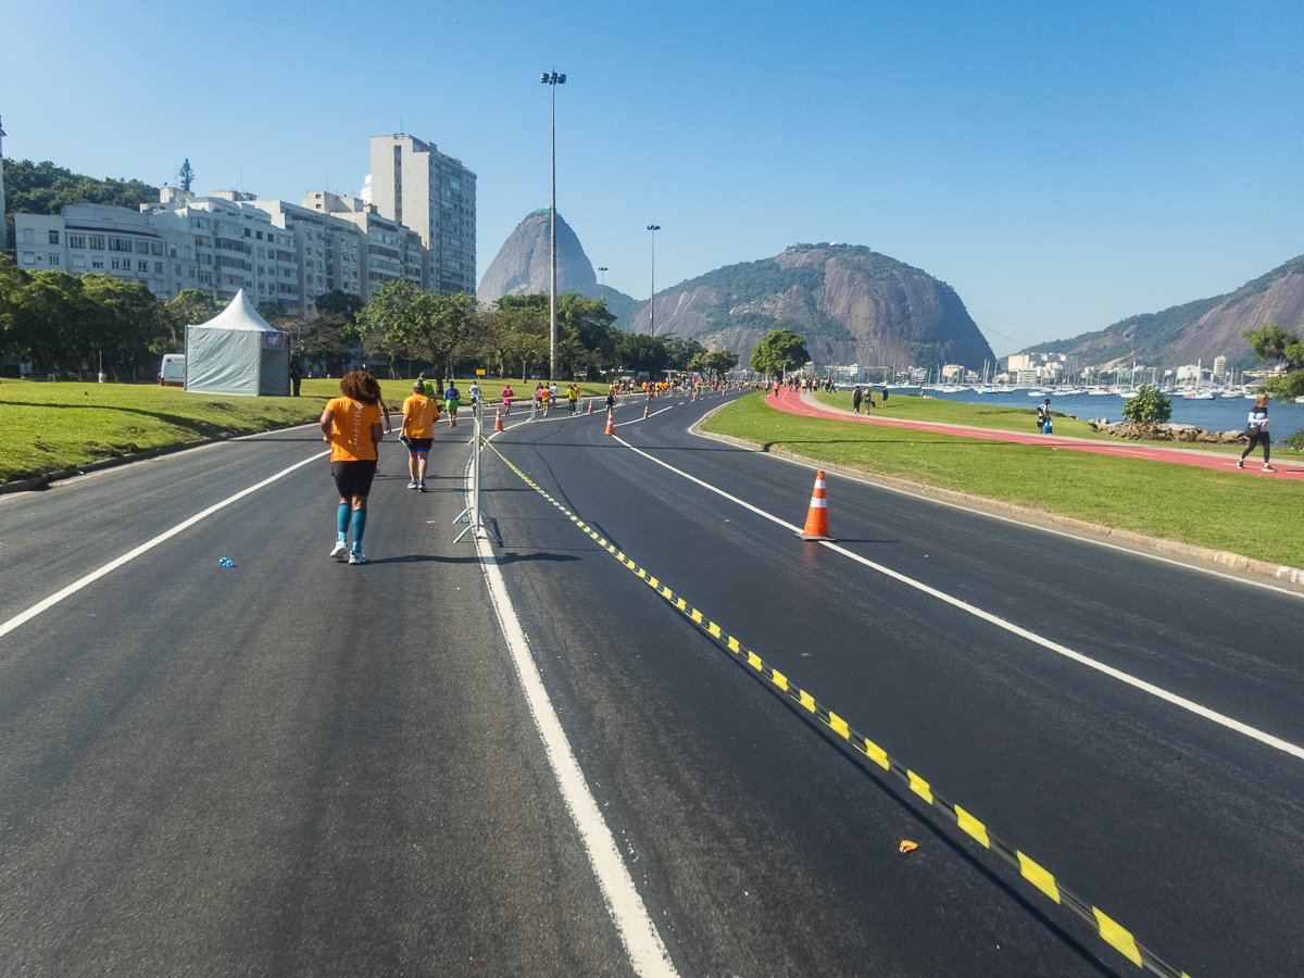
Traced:
<path fill-rule="evenodd" d="M 644 584 L 651 587 L 657 595 L 660 595 L 669 605 L 678 610 L 683 617 L 707 632 L 711 638 L 716 639 L 721 648 L 728 649 L 739 661 L 745 662 L 752 672 L 759 677 L 771 683 L 775 689 L 778 689 L 789 699 L 806 709 L 811 716 L 819 720 L 824 726 L 833 733 L 838 734 L 842 739 L 850 743 L 858 752 L 863 754 L 866 758 L 872 760 L 880 768 L 883 768 L 889 775 L 893 775 L 902 785 L 909 788 L 914 794 L 926 801 L 935 810 L 945 815 L 951 822 L 965 831 L 973 840 L 979 842 L 983 848 L 990 849 L 996 853 L 1001 859 L 1009 863 L 1013 868 L 1018 870 L 1020 875 L 1031 883 L 1043 895 L 1054 900 L 1056 904 L 1067 909 L 1073 917 L 1078 918 L 1088 927 L 1094 930 L 1107 944 L 1114 947 L 1119 953 L 1128 958 L 1132 964 L 1137 965 L 1141 970 L 1149 971 L 1150 974 L 1163 975 L 1164 978 L 1189 978 L 1185 971 L 1181 971 L 1172 965 L 1164 962 L 1153 951 L 1142 945 L 1132 932 L 1127 930 L 1118 921 L 1111 918 L 1103 910 L 1098 909 L 1095 905 L 1084 900 L 1082 897 L 1073 893 L 1071 889 L 1064 887 L 1055 875 L 1047 868 L 1041 866 L 1033 858 L 1018 850 L 1016 846 L 1001 840 L 999 836 L 994 835 L 988 828 L 979 822 L 973 814 L 956 805 L 955 802 L 938 794 L 932 786 L 919 775 L 906 768 L 898 760 L 892 758 L 885 750 L 883 750 L 874 741 L 868 739 L 858 730 L 852 728 L 842 717 L 832 712 L 819 700 L 816 700 L 810 692 L 803 690 L 798 683 L 795 683 L 789 677 L 784 675 L 781 672 L 765 665 L 764 660 L 755 652 L 743 648 L 738 639 L 733 635 L 725 632 L 716 622 L 707 618 L 700 610 L 690 605 L 682 596 L 674 593 L 668 585 L 662 584 L 661 580 L 652 574 L 649 574 L 644 567 L 639 566 L 636 561 L 619 550 L 614 544 L 609 542 L 599 533 L 596 529 L 589 527 L 584 520 L 582 520 L 576 514 L 571 512 L 562 503 L 557 502 L 552 496 L 548 494 L 541 486 L 539 486 L 533 480 L 529 479 L 524 472 L 522 472 L 516 466 L 514 466 L 497 447 L 494 447 L 488 439 L 485 443 L 489 449 L 502 459 L 503 464 L 507 466 L 512 472 L 515 472 L 531 489 L 542 496 L 548 502 L 556 506 L 565 514 L 571 523 L 579 527 L 585 535 L 597 542 L 604 550 L 612 554 L 617 561 L 619 561 L 625 567 L 643 580 Z"/>

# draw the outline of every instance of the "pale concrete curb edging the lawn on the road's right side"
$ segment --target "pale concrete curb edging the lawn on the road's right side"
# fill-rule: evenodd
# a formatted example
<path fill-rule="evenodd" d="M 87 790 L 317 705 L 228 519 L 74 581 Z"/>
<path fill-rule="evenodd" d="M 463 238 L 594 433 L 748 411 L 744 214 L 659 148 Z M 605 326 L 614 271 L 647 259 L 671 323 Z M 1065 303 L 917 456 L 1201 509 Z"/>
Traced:
<path fill-rule="evenodd" d="M 724 406 L 721 404 L 721 407 Z M 1125 544 L 1134 549 L 1150 550 L 1166 557 L 1179 557 L 1187 561 L 1198 561 L 1201 563 L 1217 563 L 1231 570 L 1252 574 L 1256 578 L 1271 578 L 1273 580 L 1283 584 L 1304 585 L 1304 570 L 1299 567 L 1287 567 L 1278 563 L 1270 563 L 1267 561 L 1256 561 L 1252 557 L 1231 553 L 1230 550 L 1213 550 L 1208 546 L 1197 546 L 1194 544 L 1184 544 L 1179 540 L 1146 536 L 1145 533 L 1137 533 L 1132 529 L 1108 527 L 1103 523 L 1089 523 L 1084 519 L 1060 516 L 1054 512 L 1046 512 L 1045 510 L 1034 510 L 1030 506 L 1017 506 L 1015 503 L 1001 502 L 1000 499 L 990 499 L 986 496 L 970 496 L 969 493 L 956 492 L 955 489 L 940 489 L 935 485 L 913 482 L 908 479 L 897 479 L 896 476 L 882 476 L 854 466 L 838 466 L 832 462 L 819 462 L 818 459 L 812 459 L 806 455 L 798 455 L 797 452 L 786 451 L 784 449 L 767 447 L 764 445 L 758 445 L 756 442 L 734 438 L 729 434 L 703 432 L 703 422 L 705 422 L 711 415 L 716 413 L 719 409 L 720 408 L 716 408 L 715 411 L 703 415 L 703 417 L 689 429 L 689 433 L 703 438 L 711 438 L 712 441 L 734 445 L 739 449 L 748 449 L 751 451 L 775 455 L 776 458 L 795 462 L 797 464 L 807 466 L 808 468 L 836 472 L 840 476 L 855 479 L 870 485 L 897 489 L 904 493 L 910 493 L 911 496 L 938 499 L 962 509 L 975 510 L 978 512 L 995 512 L 1025 523 L 1050 526 L 1056 529 L 1067 529 L 1082 536 L 1104 537 L 1118 544 Z"/>

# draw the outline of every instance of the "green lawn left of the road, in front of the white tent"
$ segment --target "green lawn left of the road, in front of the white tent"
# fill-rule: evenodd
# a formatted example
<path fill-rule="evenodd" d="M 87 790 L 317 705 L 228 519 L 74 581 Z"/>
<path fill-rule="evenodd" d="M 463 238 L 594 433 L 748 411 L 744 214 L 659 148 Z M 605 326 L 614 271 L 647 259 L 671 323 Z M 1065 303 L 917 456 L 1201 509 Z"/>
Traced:
<path fill-rule="evenodd" d="M 505 381 L 481 381 L 490 402 Z M 535 381 L 512 379 L 527 402 Z M 469 381 L 458 381 L 466 394 Z M 412 381 L 381 381 L 395 412 L 412 393 Z M 274 425 L 316 421 L 326 402 L 339 396 L 339 379 L 305 379 L 299 398 L 228 398 L 186 394 L 155 383 L 0 382 L 0 482 L 129 455 L 143 449 L 253 434 Z M 604 383 L 580 383 L 584 396 L 605 395 Z"/>

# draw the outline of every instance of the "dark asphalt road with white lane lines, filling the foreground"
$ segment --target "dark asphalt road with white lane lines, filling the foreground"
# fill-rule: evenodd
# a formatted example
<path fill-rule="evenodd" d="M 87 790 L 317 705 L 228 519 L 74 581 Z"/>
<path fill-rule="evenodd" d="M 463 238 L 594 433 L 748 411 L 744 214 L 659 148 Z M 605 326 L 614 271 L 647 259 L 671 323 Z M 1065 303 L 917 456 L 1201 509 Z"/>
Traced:
<path fill-rule="evenodd" d="M 618 411 L 619 439 L 803 522 L 810 469 L 687 434 L 719 399 L 672 403 Z M 1170 964 L 1304 971 L 1304 759 L 909 580 L 1292 745 L 1300 597 L 831 477 L 840 545 L 904 582 L 600 415 L 509 421 L 494 445 L 541 488 Z M 439 430 L 424 496 L 382 447 L 366 566 L 327 559 L 312 460 L 0 636 L 0 974 L 632 973 L 451 542 L 467 433 Z M 282 432 L 0 499 L 0 623 L 322 449 Z M 511 605 L 679 974 L 1137 973 L 484 473 Z"/>

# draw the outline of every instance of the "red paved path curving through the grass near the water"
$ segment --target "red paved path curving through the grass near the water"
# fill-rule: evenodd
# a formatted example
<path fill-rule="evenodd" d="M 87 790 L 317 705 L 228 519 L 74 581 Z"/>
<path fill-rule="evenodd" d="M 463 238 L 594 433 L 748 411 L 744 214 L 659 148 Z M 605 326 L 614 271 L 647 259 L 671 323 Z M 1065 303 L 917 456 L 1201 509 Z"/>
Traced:
<path fill-rule="evenodd" d="M 765 403 L 790 415 L 805 417 L 827 417 L 837 421 L 858 421 L 859 424 L 880 425 L 883 428 L 908 428 L 915 432 L 934 432 L 935 434 L 955 434 L 965 438 L 987 438 L 991 441 L 1013 442 L 1016 445 L 1039 445 L 1050 449 L 1068 449 L 1071 451 L 1089 451 L 1095 455 L 1115 455 L 1119 458 L 1145 459 L 1148 462 L 1168 462 L 1178 466 L 1193 466 L 1196 468 L 1211 468 L 1221 472 L 1237 472 L 1237 455 L 1224 455 L 1215 451 L 1201 451 L 1198 449 L 1167 449 L 1155 445 L 1133 445 L 1129 442 L 1097 442 L 1089 438 L 1069 438 L 1055 434 L 1035 434 L 1021 432 L 1001 432 L 992 428 L 973 428 L 970 425 L 956 425 L 941 421 L 908 421 L 896 417 L 866 417 L 854 415 L 844 408 L 822 404 L 812 395 L 797 394 L 784 390 L 777 402 L 773 395 L 765 398 Z M 1245 459 L 1245 468 L 1240 475 L 1262 476 L 1265 479 L 1288 479 L 1304 481 L 1304 467 L 1299 463 L 1283 463 L 1273 460 L 1275 473 L 1261 472 L 1264 456 L 1256 449 L 1254 456 Z"/>

